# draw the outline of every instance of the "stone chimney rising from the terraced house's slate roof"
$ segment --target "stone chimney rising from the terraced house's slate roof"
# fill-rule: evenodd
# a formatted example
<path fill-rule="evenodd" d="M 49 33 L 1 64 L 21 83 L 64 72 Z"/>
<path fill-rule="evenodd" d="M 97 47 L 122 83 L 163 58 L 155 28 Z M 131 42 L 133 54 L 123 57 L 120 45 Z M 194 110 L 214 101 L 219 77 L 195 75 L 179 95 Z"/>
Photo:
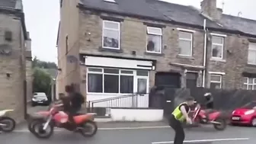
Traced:
<path fill-rule="evenodd" d="M 217 0 L 203 0 L 201 11 L 208 17 L 213 18 L 213 21 L 219 21 L 222 16 L 222 9 L 217 8 Z"/>

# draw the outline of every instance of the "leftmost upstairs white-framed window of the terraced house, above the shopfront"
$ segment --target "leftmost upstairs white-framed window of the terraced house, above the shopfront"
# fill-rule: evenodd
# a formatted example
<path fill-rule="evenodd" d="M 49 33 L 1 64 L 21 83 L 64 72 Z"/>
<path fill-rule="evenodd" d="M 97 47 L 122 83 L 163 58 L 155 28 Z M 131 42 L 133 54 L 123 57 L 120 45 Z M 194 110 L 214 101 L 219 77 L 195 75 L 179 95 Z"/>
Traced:
<path fill-rule="evenodd" d="M 120 50 L 120 22 L 103 21 L 102 47 L 106 49 Z"/>

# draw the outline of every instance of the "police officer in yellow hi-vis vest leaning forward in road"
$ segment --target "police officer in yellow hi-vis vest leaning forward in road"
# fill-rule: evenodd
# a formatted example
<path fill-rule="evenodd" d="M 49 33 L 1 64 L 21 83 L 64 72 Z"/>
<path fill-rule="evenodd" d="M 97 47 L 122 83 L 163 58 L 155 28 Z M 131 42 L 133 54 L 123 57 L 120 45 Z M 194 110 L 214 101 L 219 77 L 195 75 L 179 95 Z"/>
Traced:
<path fill-rule="evenodd" d="M 181 123 L 187 121 L 192 123 L 188 113 L 190 112 L 190 106 L 194 104 L 194 98 L 186 98 L 186 101 L 179 104 L 171 114 L 169 124 L 175 131 L 174 144 L 183 144 L 185 139 L 184 129 Z"/>

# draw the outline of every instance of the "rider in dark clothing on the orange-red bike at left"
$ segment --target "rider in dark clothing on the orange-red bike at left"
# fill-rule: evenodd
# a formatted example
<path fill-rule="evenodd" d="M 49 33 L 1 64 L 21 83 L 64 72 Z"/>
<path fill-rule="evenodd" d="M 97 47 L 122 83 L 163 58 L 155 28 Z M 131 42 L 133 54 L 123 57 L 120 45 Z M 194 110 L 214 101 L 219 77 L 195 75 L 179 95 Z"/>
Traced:
<path fill-rule="evenodd" d="M 84 97 L 82 96 L 82 94 L 75 91 L 73 85 L 66 85 L 65 91 L 68 93 L 68 102 L 66 101 L 66 108 L 69 112 L 69 122 L 72 123 L 73 126 L 75 126 L 75 120 L 73 117 L 75 116 L 75 114 L 78 113 L 79 110 L 81 110 L 82 103 L 85 102 Z"/>

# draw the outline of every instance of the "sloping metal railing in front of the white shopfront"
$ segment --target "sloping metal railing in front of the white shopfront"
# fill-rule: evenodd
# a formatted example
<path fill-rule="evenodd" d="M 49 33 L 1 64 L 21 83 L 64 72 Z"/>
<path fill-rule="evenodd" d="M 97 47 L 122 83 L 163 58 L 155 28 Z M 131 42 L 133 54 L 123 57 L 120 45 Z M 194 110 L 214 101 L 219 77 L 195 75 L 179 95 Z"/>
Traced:
<path fill-rule="evenodd" d="M 94 107 L 148 107 L 149 97 L 146 94 L 127 94 L 112 98 L 104 98 L 100 100 L 87 101 L 89 112 L 94 112 Z"/>

